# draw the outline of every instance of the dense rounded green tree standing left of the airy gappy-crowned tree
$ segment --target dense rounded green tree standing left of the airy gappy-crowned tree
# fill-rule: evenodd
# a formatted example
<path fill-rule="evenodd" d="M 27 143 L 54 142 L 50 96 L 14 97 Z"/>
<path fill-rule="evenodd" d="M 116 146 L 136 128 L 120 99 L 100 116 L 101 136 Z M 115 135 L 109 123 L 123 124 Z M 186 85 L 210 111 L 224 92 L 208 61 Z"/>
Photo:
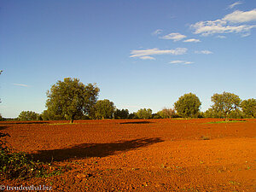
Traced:
<path fill-rule="evenodd" d="M 174 103 L 177 114 L 183 118 L 197 118 L 200 113 L 201 102 L 193 93 L 180 96 Z"/>

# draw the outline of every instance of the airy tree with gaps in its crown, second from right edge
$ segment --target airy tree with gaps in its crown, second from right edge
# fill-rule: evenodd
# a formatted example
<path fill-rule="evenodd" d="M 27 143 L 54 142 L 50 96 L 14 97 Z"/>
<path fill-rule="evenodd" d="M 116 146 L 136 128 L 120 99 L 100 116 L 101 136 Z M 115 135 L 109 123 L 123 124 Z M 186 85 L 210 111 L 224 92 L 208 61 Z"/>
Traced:
<path fill-rule="evenodd" d="M 234 93 L 223 92 L 212 96 L 212 111 L 218 118 L 228 119 L 230 112 L 239 108 L 241 99 Z"/>

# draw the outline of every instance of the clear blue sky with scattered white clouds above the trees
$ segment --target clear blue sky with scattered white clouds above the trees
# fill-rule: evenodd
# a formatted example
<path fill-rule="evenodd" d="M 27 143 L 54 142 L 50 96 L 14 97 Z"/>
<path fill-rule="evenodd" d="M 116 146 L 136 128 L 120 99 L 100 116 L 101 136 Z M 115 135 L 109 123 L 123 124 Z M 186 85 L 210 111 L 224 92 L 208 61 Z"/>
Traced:
<path fill-rule="evenodd" d="M 195 93 L 256 96 L 254 0 L 0 1 L 0 113 L 42 113 L 57 80 L 130 112 Z"/>

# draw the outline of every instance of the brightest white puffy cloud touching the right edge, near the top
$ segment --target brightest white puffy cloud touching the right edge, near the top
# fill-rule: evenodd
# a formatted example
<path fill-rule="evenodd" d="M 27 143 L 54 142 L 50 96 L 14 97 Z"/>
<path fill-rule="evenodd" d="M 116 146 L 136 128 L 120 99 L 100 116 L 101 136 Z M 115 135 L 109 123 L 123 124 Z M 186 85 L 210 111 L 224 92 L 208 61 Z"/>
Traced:
<path fill-rule="evenodd" d="M 230 21 L 232 23 L 242 23 L 256 20 L 256 9 L 250 11 L 236 10 L 232 14 L 225 15 L 223 20 Z"/>

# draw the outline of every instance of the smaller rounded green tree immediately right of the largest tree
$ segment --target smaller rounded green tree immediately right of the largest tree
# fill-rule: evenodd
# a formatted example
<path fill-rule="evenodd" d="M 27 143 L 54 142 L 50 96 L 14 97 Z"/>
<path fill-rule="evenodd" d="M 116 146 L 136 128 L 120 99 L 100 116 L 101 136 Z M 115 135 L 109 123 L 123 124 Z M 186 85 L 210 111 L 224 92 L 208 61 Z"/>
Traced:
<path fill-rule="evenodd" d="M 114 104 L 108 99 L 99 100 L 94 106 L 94 119 L 112 119 L 114 112 Z"/>

